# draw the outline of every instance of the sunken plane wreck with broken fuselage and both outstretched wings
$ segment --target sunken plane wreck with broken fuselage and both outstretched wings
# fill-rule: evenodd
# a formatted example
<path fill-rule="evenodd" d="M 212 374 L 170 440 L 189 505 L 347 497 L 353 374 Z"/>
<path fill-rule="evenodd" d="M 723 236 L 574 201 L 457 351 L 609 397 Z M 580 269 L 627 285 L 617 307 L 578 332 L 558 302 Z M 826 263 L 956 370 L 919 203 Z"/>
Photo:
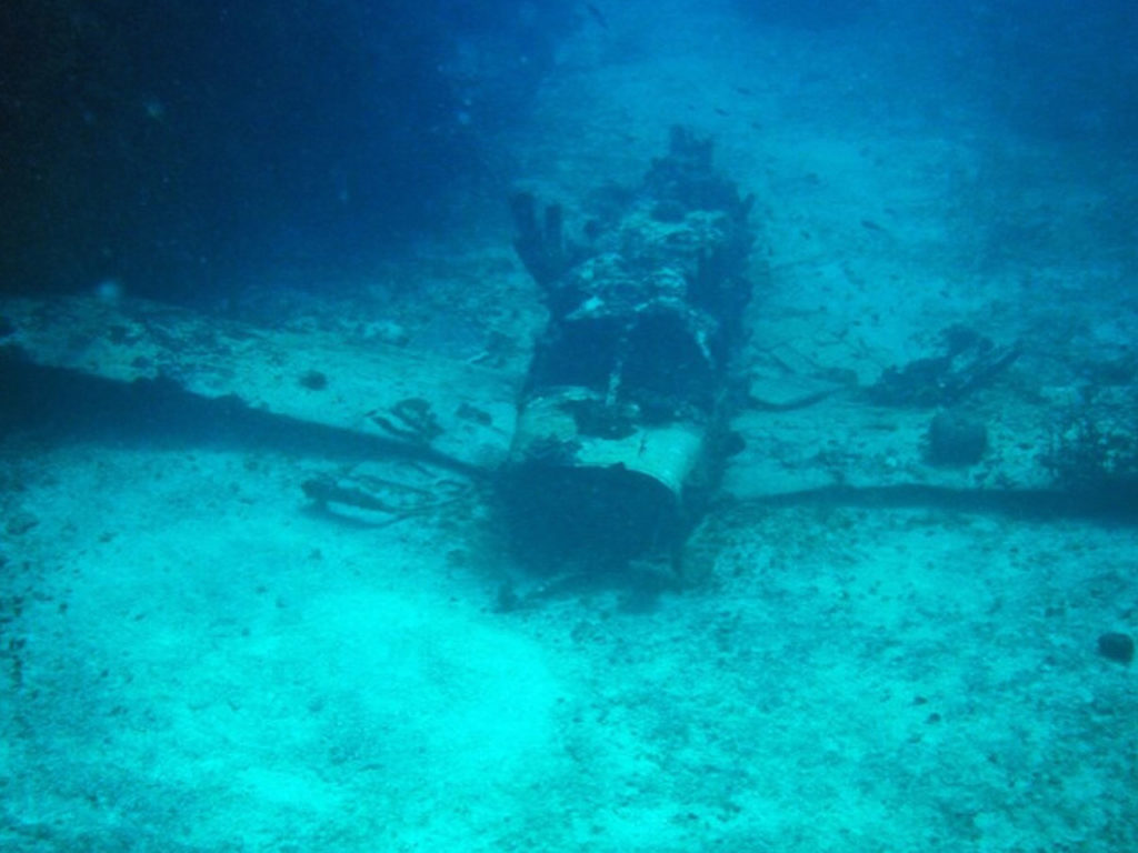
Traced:
<path fill-rule="evenodd" d="M 699 574 L 683 553 L 714 496 L 1032 491 L 1086 464 L 1039 452 L 1052 413 L 984 399 L 1017 350 L 967 329 L 872 387 L 749 367 L 753 201 L 685 127 L 572 234 L 560 205 L 516 194 L 514 249 L 547 309 L 525 371 L 97 296 L 0 301 L 0 354 L 368 437 L 371 469 L 310 479 L 310 500 L 388 523 L 478 481 L 522 550 L 600 566 L 654 555 Z"/>

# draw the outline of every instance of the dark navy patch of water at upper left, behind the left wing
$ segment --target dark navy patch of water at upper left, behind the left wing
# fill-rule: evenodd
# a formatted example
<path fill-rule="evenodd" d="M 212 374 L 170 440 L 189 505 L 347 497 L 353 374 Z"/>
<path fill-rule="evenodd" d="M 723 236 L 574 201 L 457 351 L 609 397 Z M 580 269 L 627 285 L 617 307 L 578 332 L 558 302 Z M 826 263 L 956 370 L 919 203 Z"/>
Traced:
<path fill-rule="evenodd" d="M 527 9 L 522 14 L 522 7 Z M 215 295 L 454 224 L 575 26 L 556 2 L 59 2 L 0 13 L 6 290 Z"/>

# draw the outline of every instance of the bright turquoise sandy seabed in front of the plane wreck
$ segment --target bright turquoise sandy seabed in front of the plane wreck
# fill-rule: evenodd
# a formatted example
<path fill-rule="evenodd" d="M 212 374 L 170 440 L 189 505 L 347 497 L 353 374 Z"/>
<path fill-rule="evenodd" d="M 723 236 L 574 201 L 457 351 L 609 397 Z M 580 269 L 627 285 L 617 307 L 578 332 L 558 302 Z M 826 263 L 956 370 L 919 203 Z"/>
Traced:
<path fill-rule="evenodd" d="M 1133 529 L 737 507 L 704 589 L 502 613 L 485 521 L 337 522 L 304 467 L 7 455 L 6 848 L 1138 843 L 1133 671 L 1096 652 Z"/>

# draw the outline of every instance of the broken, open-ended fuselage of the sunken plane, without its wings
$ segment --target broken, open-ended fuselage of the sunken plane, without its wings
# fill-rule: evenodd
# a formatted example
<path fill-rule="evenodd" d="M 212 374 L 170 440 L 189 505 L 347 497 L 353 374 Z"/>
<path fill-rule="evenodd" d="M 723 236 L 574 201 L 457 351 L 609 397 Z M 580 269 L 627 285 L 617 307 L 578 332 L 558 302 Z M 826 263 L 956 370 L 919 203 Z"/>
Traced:
<path fill-rule="evenodd" d="M 518 254 L 550 309 L 503 477 L 528 540 L 615 558 L 682 540 L 751 297 L 751 201 L 684 127 L 580 242 L 559 206 L 514 198 Z"/>

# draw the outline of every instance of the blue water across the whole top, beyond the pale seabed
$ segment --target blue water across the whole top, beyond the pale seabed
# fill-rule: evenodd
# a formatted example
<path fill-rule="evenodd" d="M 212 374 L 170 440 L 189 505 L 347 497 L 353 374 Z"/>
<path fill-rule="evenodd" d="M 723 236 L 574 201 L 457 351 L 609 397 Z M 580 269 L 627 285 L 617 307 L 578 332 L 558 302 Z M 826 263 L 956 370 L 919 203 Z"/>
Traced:
<path fill-rule="evenodd" d="M 16 3 L 2 36 L 8 290 L 115 276 L 138 292 L 215 295 L 284 245 L 366 270 L 525 177 L 500 133 L 526 125 L 575 39 L 618 65 L 652 49 L 636 31 L 709 19 L 756 39 L 816 39 L 823 61 L 826 44 L 853 40 L 906 56 L 894 85 L 927 75 L 929 102 L 974 110 L 981 127 L 1108 158 L 1129 157 L 1138 121 L 1124 3 L 34 8 Z"/>

